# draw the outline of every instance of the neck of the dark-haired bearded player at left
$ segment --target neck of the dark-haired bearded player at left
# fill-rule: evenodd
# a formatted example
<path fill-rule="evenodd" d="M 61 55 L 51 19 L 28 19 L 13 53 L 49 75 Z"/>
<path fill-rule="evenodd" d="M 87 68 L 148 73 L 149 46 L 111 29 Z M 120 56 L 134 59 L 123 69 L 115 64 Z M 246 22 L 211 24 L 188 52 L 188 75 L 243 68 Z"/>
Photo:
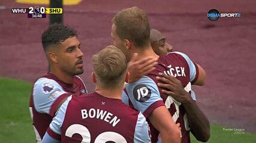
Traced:
<path fill-rule="evenodd" d="M 67 74 L 59 69 L 52 68 L 51 73 L 53 73 L 55 76 L 59 78 L 62 82 L 68 83 L 68 84 L 73 84 L 74 82 L 74 76 L 71 76 L 70 74 Z"/>

